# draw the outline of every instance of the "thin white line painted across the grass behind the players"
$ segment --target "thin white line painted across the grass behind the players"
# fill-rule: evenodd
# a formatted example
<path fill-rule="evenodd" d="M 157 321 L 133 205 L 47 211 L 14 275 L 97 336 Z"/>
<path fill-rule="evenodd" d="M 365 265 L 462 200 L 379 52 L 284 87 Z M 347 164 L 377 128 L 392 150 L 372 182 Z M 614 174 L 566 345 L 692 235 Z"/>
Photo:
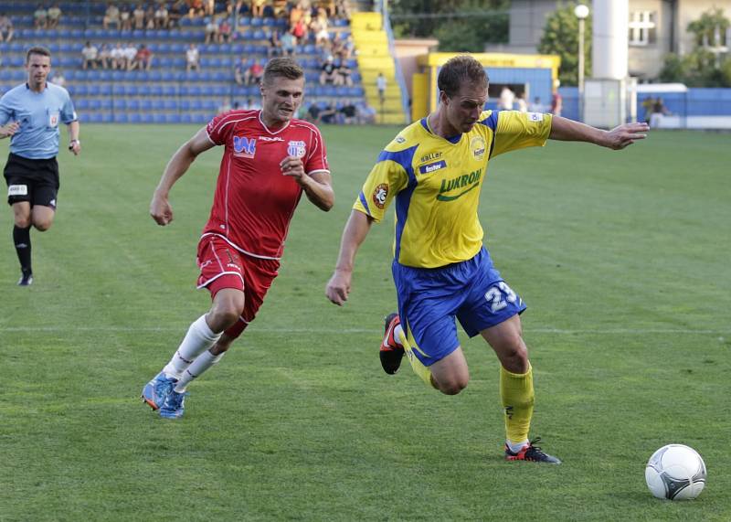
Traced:
<path fill-rule="evenodd" d="M 12 333 L 69 333 L 69 332 L 185 332 L 189 325 L 179 326 L 0 326 L 0 334 Z M 377 334 L 377 328 L 257 328 L 252 327 L 252 333 L 267 334 Z M 607 328 L 600 330 L 581 329 L 572 330 L 564 328 L 524 328 L 524 334 L 554 334 L 557 336 L 573 335 L 599 335 L 599 336 L 627 336 L 627 335 L 652 335 L 652 334 L 679 334 L 679 335 L 703 335 L 703 336 L 727 336 L 731 335 L 731 329 L 704 330 L 693 328 Z"/>

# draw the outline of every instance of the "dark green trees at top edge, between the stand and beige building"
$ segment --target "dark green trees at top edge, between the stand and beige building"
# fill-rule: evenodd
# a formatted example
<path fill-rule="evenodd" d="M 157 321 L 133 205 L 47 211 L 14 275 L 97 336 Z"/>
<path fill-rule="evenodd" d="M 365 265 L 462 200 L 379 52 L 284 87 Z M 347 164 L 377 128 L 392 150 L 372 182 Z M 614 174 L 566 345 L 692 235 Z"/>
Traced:
<path fill-rule="evenodd" d="M 482 52 L 508 41 L 509 0 L 395 0 L 391 25 L 397 37 L 434 37 L 441 51 Z"/>

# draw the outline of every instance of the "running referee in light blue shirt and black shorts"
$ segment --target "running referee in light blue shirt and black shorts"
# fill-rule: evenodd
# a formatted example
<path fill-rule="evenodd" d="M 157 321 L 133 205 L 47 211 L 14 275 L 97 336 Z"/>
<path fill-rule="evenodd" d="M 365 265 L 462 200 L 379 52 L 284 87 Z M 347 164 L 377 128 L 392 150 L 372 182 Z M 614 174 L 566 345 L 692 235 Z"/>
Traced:
<path fill-rule="evenodd" d="M 58 123 L 69 128 L 69 151 L 78 155 L 79 120 L 69 91 L 48 83 L 51 53 L 31 48 L 26 55 L 28 80 L 0 98 L 0 139 L 11 136 L 5 164 L 7 203 L 13 207 L 13 242 L 22 275 L 18 284 L 33 282 L 30 227 L 48 230 L 58 196 Z"/>

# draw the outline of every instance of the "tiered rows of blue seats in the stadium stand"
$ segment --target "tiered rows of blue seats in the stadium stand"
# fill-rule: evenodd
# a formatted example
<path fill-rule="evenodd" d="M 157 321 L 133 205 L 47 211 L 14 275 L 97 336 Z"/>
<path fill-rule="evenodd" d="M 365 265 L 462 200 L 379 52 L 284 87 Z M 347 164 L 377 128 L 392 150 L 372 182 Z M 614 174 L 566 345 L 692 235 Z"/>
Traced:
<path fill-rule="evenodd" d="M 248 5 L 248 3 L 245 3 Z M 217 9 L 226 8 L 224 2 Z M 242 14 L 238 30 L 229 43 L 205 44 L 207 17 L 183 16 L 169 29 L 104 29 L 102 18 L 106 2 L 60 3 L 63 16 L 58 27 L 34 27 L 37 2 L 4 0 L 2 11 L 11 17 L 15 37 L 0 42 L 0 93 L 26 80 L 26 50 L 34 45 L 50 49 L 53 74 L 62 76 L 86 123 L 206 123 L 222 106 L 246 107 L 259 98 L 259 88 L 239 86 L 234 67 L 241 57 L 251 64 L 265 62 L 271 30 L 285 29 L 287 20 Z M 349 21 L 331 21 L 331 36 L 349 34 Z M 144 44 L 154 53 L 149 70 L 82 69 L 81 49 L 85 42 L 95 46 L 117 43 Z M 195 43 L 200 51 L 200 67 L 186 72 L 185 51 Z M 347 60 L 353 85 L 319 85 L 323 50 L 311 43 L 296 48 L 296 58 L 305 69 L 306 102 L 339 108 L 345 101 L 365 103 L 365 90 L 355 58 Z"/>

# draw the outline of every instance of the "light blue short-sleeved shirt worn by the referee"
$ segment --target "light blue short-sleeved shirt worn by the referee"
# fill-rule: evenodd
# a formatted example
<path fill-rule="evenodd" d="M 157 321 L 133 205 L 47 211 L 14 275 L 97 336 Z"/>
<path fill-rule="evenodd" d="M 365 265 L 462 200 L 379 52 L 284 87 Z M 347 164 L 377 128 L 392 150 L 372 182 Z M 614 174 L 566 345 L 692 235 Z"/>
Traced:
<path fill-rule="evenodd" d="M 48 159 L 58 154 L 58 122 L 76 121 L 69 91 L 48 82 L 43 92 L 26 83 L 0 98 L 0 125 L 20 123 L 10 138 L 10 152 L 28 159 Z"/>

